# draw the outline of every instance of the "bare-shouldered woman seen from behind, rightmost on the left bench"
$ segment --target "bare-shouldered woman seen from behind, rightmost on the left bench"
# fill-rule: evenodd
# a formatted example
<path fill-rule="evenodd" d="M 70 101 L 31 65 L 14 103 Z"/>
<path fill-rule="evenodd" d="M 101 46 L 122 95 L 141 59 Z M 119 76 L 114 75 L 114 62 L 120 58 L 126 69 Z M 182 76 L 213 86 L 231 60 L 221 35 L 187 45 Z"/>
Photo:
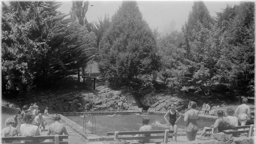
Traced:
<path fill-rule="evenodd" d="M 61 116 L 59 114 L 54 114 L 52 120 L 55 122 L 50 125 L 47 135 L 55 135 L 55 134 L 62 135 L 63 133 L 65 135 L 68 135 L 65 125 L 59 122 L 61 120 Z M 59 141 L 63 141 L 63 140 L 60 139 Z M 54 140 L 52 139 L 50 140 L 50 142 L 54 142 Z"/>

